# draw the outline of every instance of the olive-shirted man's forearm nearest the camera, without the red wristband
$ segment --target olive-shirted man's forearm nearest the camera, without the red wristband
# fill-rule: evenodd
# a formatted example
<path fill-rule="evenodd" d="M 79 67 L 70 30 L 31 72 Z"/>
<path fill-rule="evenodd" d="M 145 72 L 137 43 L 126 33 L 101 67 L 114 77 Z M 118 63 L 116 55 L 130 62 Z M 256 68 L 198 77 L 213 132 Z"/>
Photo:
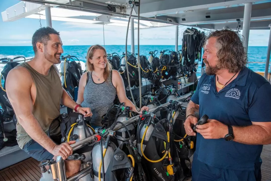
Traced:
<path fill-rule="evenodd" d="M 21 118 L 19 118 L 20 120 Z M 43 148 L 45 148 L 47 151 L 52 153 L 54 146 L 56 143 L 54 143 L 43 131 L 40 124 L 38 123 L 37 119 L 33 116 L 27 116 L 23 118 L 22 121 L 19 121 L 19 123 L 22 125 L 24 130 L 27 132 L 27 134 L 34 139 L 37 143 L 39 143 Z"/>

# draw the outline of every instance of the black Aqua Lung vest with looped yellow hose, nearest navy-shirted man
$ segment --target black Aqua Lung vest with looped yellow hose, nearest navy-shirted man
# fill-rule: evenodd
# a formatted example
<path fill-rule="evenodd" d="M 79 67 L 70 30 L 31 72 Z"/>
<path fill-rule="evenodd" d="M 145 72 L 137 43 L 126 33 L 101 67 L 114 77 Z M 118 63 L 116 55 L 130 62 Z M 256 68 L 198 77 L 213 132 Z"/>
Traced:
<path fill-rule="evenodd" d="M 166 142 L 166 145 L 167 145 L 166 148 L 168 148 L 168 146 L 170 146 L 170 154 L 172 156 L 173 163 L 175 165 L 178 165 L 179 158 L 178 158 L 178 154 L 176 154 L 177 153 L 176 147 L 173 146 L 174 145 L 173 134 L 170 134 L 170 144 L 169 145 L 167 142 L 167 131 L 168 131 L 168 128 L 166 126 L 167 121 L 169 121 L 169 120 L 162 119 L 158 123 L 156 123 L 154 130 L 150 135 L 149 141 L 147 142 L 147 145 L 144 149 L 144 155 L 148 159 L 153 160 L 153 161 L 161 159 L 165 154 L 165 152 L 163 152 L 163 151 L 165 150 L 164 142 Z M 167 157 L 168 157 L 168 155 L 167 155 Z M 166 158 L 164 160 L 167 160 Z M 153 180 L 153 181 L 174 181 L 176 175 L 182 175 L 182 169 L 180 169 L 180 171 L 177 174 L 167 176 L 167 171 L 163 170 L 164 160 L 157 162 L 157 163 L 152 163 L 152 162 L 147 161 L 144 157 L 142 157 L 142 163 L 145 164 L 148 169 L 148 174 L 149 174 L 148 177 L 150 180 Z"/>

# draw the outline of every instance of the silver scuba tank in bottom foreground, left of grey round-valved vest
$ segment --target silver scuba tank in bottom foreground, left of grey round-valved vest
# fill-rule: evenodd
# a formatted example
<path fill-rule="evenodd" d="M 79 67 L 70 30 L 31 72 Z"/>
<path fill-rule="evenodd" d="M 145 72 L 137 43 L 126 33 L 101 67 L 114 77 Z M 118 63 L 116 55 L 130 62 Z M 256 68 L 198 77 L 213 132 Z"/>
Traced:
<path fill-rule="evenodd" d="M 111 162 L 112 157 L 114 156 L 114 152 L 116 150 L 116 146 L 114 145 L 114 143 L 109 142 L 110 144 L 107 147 L 107 150 L 105 152 L 105 156 L 104 156 L 104 172 L 105 174 L 107 173 L 107 169 L 108 166 Z M 104 152 L 105 149 L 105 142 L 103 142 L 102 144 L 102 150 Z M 91 157 L 92 157 L 92 172 L 94 175 L 94 181 L 99 181 L 99 177 L 98 177 L 98 173 L 99 173 L 99 166 L 101 163 L 101 144 L 97 143 L 93 149 L 92 149 L 92 153 L 91 153 Z M 102 168 L 101 168 L 101 181 L 103 180 L 102 178 Z"/>

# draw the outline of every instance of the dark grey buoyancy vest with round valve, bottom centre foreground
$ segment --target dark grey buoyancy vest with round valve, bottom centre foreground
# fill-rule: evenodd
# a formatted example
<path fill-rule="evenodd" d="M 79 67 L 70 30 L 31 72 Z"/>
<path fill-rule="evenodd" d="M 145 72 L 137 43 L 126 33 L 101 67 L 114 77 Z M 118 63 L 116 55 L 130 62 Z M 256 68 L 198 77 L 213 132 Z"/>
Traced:
<path fill-rule="evenodd" d="M 128 142 L 123 142 L 116 149 L 107 168 L 108 171 L 105 173 L 107 181 L 129 181 L 134 173 L 133 164 L 130 158 L 128 158 L 127 153 L 124 152 L 124 145 L 128 148 L 128 154 L 133 154 Z"/>

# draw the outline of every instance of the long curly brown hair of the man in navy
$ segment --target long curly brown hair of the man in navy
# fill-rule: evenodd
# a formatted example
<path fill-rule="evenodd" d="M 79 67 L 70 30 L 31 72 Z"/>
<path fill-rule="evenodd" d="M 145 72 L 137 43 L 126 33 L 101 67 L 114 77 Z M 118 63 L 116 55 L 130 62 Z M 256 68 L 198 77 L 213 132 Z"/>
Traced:
<path fill-rule="evenodd" d="M 236 73 L 247 64 L 247 53 L 237 32 L 228 29 L 215 30 L 207 39 L 211 37 L 217 38 L 217 57 L 220 68 L 227 69 L 229 73 Z"/>

